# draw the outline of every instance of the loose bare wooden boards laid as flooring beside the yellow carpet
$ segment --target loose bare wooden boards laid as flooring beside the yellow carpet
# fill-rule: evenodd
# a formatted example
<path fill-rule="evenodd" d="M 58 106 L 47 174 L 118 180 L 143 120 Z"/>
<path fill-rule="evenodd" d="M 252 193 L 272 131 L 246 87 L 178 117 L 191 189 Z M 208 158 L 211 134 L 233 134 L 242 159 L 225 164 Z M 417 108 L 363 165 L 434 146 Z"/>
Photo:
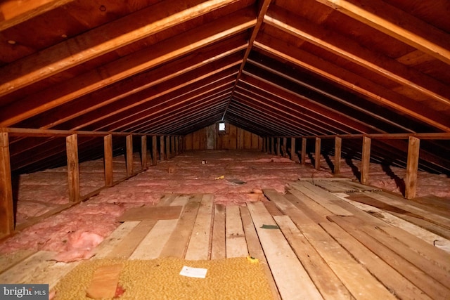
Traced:
<path fill-rule="evenodd" d="M 329 187 L 335 190 L 342 182 L 330 181 Z M 405 216 L 400 218 L 404 223 L 416 218 L 449 233 L 445 213 L 383 192 L 361 191 L 361 186 L 348 194 L 351 197 L 324 188 L 295 181 L 285 195 L 266 188 L 266 200 L 239 206 L 214 204 L 211 194 L 165 197 L 158 206 L 182 206 L 178 219 L 126 221 L 91 259 L 252 256 L 266 266 L 274 299 L 445 299 L 450 295 L 450 254 L 387 220 L 392 214 Z M 369 203 L 368 197 L 373 201 Z M 383 213 L 358 208 L 368 204 L 380 204 L 371 209 Z M 77 262 L 56 263 L 50 257 L 49 252 L 10 257 L 0 264 L 0 282 L 54 287 Z"/>

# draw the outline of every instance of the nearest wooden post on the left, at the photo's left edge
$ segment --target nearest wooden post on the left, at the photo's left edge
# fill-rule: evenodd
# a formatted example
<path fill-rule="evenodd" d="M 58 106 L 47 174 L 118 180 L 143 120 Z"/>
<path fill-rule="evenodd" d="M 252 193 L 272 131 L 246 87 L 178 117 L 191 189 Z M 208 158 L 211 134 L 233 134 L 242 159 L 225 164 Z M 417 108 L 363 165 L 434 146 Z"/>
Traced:
<path fill-rule="evenodd" d="M 14 206 L 9 136 L 7 132 L 0 132 L 0 233 L 9 235 L 13 230 Z"/>

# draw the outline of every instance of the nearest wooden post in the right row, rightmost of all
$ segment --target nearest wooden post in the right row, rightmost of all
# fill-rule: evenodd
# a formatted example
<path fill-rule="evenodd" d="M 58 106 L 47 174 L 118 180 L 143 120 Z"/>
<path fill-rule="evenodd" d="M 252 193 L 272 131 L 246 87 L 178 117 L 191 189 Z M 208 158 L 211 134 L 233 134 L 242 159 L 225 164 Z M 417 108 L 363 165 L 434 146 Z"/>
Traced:
<path fill-rule="evenodd" d="M 416 197 L 417 171 L 419 166 L 420 140 L 414 136 L 409 137 L 408 160 L 406 162 L 405 197 Z"/>

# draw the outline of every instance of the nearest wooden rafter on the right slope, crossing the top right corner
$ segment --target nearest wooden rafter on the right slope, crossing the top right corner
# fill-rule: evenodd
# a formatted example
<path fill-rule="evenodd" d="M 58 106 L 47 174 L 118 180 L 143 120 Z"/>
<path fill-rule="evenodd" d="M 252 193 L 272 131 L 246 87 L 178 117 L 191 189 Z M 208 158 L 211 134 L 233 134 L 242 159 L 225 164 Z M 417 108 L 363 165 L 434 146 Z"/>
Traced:
<path fill-rule="evenodd" d="M 316 0 L 450 65 L 450 37 L 380 0 Z"/>

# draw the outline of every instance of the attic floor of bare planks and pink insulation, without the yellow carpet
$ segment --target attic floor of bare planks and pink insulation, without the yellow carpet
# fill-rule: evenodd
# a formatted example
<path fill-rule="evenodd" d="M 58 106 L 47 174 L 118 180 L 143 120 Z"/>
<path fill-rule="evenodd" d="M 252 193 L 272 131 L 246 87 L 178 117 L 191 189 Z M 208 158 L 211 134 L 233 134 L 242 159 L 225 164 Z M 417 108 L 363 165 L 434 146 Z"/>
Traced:
<path fill-rule="evenodd" d="M 94 254 L 91 259 L 250 254 L 267 262 L 283 299 L 320 299 L 317 291 L 326 299 L 450 294 L 448 202 L 406 201 L 330 176 L 261 152 L 186 152 L 1 242 L 2 252 L 15 251 L 1 256 L 0 282 L 53 287 L 78 263 L 55 259 Z M 184 210 L 175 220 L 117 222 L 127 209 L 154 205 Z"/>

